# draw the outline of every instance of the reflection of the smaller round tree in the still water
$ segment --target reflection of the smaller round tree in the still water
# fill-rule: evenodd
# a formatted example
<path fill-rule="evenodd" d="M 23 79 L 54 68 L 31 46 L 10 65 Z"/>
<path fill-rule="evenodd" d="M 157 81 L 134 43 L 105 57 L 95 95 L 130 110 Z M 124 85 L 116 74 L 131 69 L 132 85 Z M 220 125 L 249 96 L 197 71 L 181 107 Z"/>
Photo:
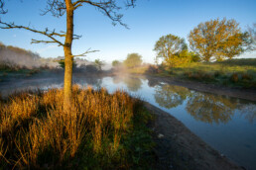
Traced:
<path fill-rule="evenodd" d="M 181 86 L 171 86 L 165 84 L 163 86 L 156 86 L 155 100 L 161 106 L 171 109 L 183 104 L 187 97 L 191 96 L 189 89 Z"/>

